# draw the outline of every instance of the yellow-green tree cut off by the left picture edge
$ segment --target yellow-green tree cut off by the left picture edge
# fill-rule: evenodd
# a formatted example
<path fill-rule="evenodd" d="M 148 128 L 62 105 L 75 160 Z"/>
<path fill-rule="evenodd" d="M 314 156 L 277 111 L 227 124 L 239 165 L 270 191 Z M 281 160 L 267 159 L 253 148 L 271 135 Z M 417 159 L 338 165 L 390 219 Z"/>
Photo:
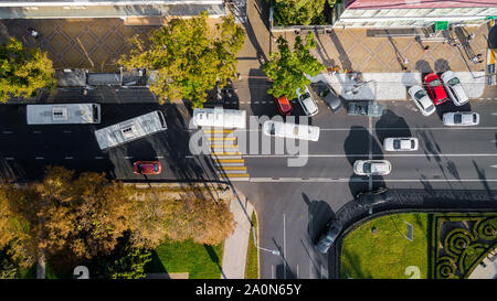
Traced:
<path fill-rule="evenodd" d="M 0 103 L 11 97 L 32 97 L 38 89 L 54 88 L 52 61 L 40 49 L 25 50 L 11 37 L 0 45 Z"/>

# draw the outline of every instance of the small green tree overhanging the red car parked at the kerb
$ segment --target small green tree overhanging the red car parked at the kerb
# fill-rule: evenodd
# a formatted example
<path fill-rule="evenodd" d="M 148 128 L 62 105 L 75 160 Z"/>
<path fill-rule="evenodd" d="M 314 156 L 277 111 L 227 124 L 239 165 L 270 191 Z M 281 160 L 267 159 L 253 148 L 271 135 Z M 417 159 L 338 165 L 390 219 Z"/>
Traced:
<path fill-rule="evenodd" d="M 303 43 L 300 36 L 295 39 L 294 51 L 283 36 L 278 36 L 276 43 L 279 52 L 272 53 L 263 66 L 264 73 L 273 80 L 267 93 L 274 97 L 285 95 L 293 99 L 297 97 L 297 88 L 303 90 L 310 83 L 306 75 L 316 76 L 325 66 L 310 54 L 310 49 L 316 47 L 310 32 L 306 36 L 306 43 Z"/>

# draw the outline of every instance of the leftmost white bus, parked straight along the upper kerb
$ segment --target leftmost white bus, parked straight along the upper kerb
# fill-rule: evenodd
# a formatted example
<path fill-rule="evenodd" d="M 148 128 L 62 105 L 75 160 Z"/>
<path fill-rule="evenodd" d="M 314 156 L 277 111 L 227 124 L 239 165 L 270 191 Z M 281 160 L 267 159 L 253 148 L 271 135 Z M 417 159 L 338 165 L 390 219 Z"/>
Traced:
<path fill-rule="evenodd" d="M 99 123 L 98 104 L 28 105 L 28 125 Z"/>

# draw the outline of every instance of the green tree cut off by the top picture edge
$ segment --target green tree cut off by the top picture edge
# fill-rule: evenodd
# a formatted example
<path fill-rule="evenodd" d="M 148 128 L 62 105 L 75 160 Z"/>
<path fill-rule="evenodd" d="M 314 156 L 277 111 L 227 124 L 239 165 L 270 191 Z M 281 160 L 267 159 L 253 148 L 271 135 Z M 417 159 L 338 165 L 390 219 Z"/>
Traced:
<path fill-rule="evenodd" d="M 274 0 L 274 18 L 277 25 L 325 24 L 325 3 L 335 0 Z"/>

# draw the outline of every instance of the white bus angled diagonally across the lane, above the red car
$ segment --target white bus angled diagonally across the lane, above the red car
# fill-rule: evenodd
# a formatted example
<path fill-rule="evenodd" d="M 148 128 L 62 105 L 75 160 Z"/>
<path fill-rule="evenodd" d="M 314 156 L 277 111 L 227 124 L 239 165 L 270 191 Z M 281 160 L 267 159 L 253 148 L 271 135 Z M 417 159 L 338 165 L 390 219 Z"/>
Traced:
<path fill-rule="evenodd" d="M 147 135 L 163 131 L 167 128 L 163 114 L 160 110 L 156 110 L 117 125 L 96 130 L 95 137 L 97 139 L 98 147 L 104 150 L 130 142 Z"/>

